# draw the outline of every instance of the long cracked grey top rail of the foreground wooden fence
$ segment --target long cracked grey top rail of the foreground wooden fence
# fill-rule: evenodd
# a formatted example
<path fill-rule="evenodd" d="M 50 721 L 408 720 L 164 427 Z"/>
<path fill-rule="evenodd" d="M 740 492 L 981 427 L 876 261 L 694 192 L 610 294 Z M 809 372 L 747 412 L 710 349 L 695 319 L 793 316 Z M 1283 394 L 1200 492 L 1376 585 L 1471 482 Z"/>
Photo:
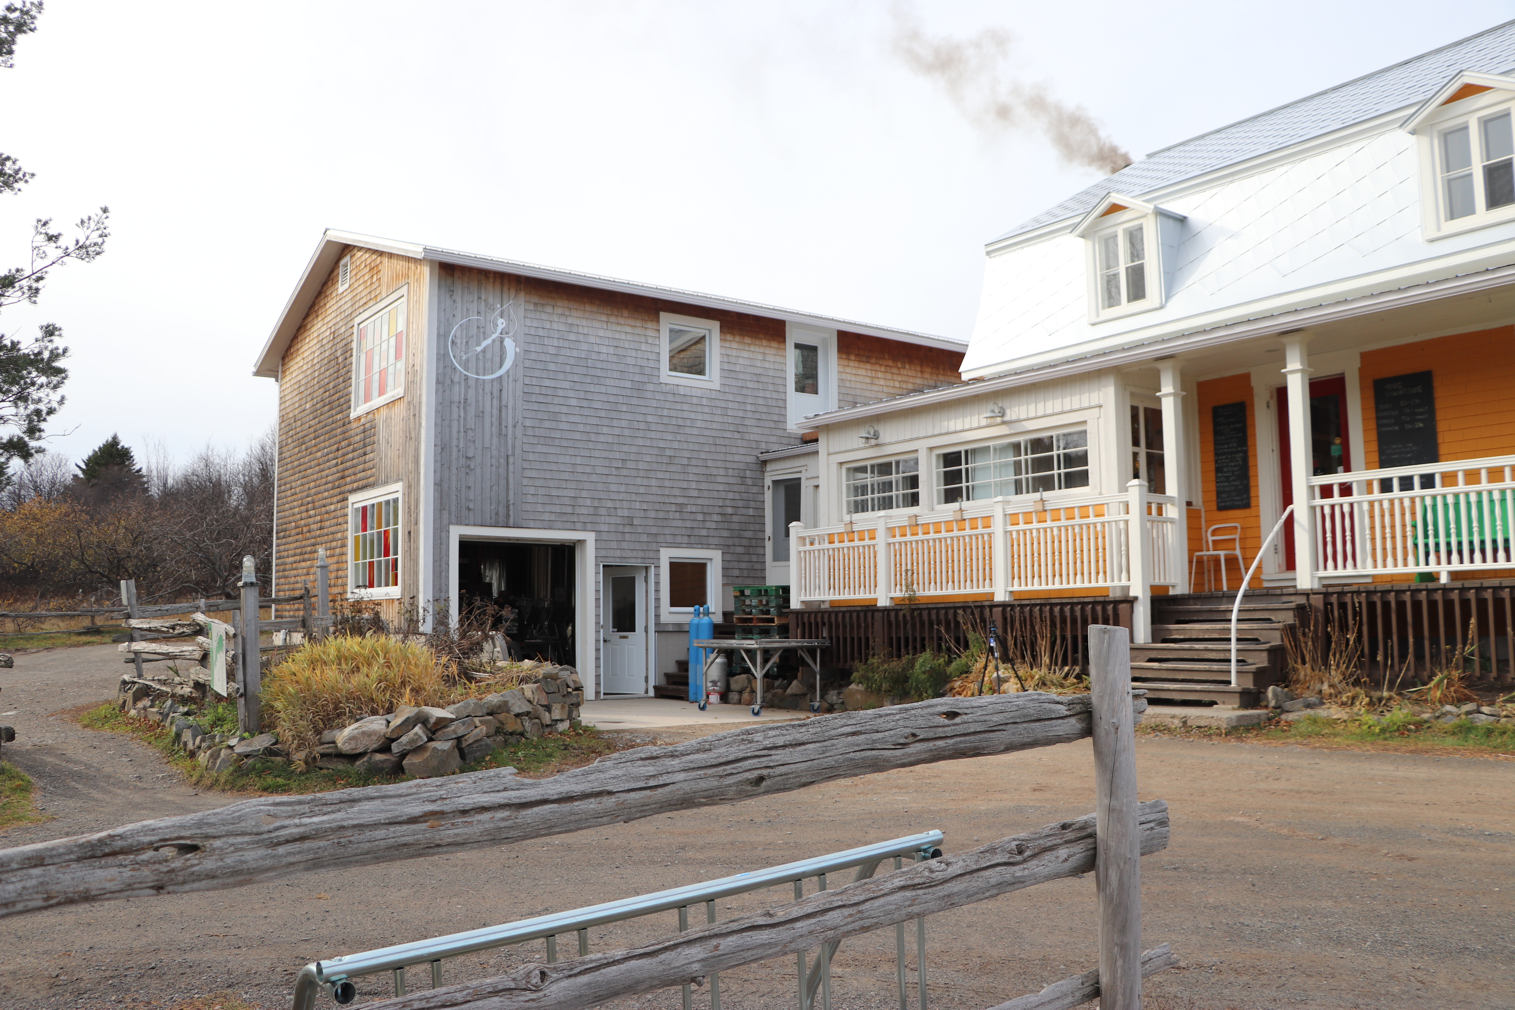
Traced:
<path fill-rule="evenodd" d="M 1132 704 L 1142 712 L 1147 700 L 1135 695 Z M 621 751 L 544 780 L 498 769 L 258 796 L 0 849 L 0 916 L 509 845 L 895 768 L 1050 747 L 1089 731 L 1088 695 L 936 698 Z"/>

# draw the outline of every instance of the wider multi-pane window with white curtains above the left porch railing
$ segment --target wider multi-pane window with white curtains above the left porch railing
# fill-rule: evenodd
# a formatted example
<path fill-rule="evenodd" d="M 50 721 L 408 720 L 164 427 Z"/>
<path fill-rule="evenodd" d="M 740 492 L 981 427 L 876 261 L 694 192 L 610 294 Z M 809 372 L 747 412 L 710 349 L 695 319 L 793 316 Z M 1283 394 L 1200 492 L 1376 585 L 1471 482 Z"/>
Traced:
<path fill-rule="evenodd" d="M 1089 486 L 1085 429 L 936 454 L 938 504 Z"/>

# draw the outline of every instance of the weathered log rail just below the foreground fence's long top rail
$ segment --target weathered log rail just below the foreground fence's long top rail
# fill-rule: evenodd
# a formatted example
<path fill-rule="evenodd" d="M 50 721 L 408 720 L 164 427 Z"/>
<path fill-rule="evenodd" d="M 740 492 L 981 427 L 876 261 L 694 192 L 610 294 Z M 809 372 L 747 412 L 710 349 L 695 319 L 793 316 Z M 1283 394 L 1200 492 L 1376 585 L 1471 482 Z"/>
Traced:
<path fill-rule="evenodd" d="M 1141 804 L 1138 822 L 1144 856 L 1168 846 L 1167 803 L 1153 800 Z M 971 853 L 944 856 L 836 890 L 817 892 L 789 906 L 677 933 L 644 946 L 554 965 L 526 965 L 498 978 L 365 1005 L 374 1010 L 594 1007 L 656 989 L 697 983 L 711 972 L 792 955 L 824 940 L 882 930 L 915 916 L 1086 874 L 1094 869 L 1094 836 L 1095 816 L 1091 813 L 1000 839 Z M 339 962 L 324 962 L 323 969 L 327 978 L 341 977 Z"/>

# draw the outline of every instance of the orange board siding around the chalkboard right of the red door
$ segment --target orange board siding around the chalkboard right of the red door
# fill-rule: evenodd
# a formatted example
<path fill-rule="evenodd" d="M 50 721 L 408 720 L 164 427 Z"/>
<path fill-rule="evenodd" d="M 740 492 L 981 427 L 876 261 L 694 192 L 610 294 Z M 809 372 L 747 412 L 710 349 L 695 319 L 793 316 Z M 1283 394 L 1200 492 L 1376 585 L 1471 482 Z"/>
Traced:
<path fill-rule="evenodd" d="M 1436 392 L 1436 450 L 1441 462 L 1515 453 L 1515 327 L 1454 333 L 1430 341 L 1364 351 L 1364 469 L 1379 466 L 1377 407 L 1373 380 L 1430 369 Z M 1515 578 L 1515 569 L 1453 572 L 1453 580 Z M 1377 575 L 1400 583 L 1404 575 Z"/>

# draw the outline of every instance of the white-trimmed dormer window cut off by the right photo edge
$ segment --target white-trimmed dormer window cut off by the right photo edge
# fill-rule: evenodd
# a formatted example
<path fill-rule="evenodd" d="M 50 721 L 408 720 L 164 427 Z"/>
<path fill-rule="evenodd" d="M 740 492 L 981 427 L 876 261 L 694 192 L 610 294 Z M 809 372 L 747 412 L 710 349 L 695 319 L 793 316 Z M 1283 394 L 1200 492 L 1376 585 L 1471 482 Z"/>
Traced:
<path fill-rule="evenodd" d="M 1404 129 L 1420 138 L 1426 238 L 1515 220 L 1515 77 L 1457 74 Z"/>

